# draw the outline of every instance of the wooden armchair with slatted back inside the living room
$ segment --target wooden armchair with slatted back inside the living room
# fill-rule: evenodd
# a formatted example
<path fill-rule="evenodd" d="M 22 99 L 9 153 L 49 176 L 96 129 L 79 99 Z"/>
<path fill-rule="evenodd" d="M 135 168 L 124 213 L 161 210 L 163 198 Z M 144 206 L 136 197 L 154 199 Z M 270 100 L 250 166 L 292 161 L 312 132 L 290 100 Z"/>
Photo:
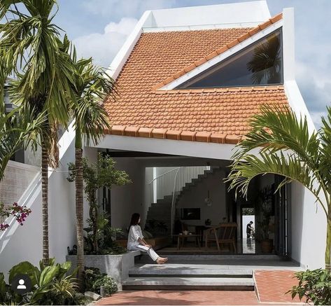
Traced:
<path fill-rule="evenodd" d="M 206 248 L 208 248 L 208 242 L 216 242 L 218 251 L 220 251 L 220 246 L 222 244 L 229 244 L 230 246 L 233 246 L 234 253 L 237 253 L 237 226 L 237 223 L 220 223 L 218 226 L 205 230 L 204 239 Z"/>

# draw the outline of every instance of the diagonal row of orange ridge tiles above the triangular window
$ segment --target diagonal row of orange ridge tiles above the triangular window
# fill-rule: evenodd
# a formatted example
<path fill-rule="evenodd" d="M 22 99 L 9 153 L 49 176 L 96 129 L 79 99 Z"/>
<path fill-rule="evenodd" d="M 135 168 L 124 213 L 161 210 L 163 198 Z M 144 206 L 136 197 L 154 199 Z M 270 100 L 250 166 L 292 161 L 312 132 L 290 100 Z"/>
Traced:
<path fill-rule="evenodd" d="M 263 29 L 266 29 L 267 27 L 278 22 L 282 18 L 283 18 L 283 13 L 279 13 L 279 14 L 275 15 L 274 17 L 269 18 L 266 22 L 263 22 L 262 24 L 254 27 L 253 29 L 249 30 L 247 33 L 239 36 L 237 39 L 230 41 L 230 43 L 227 43 L 227 45 L 220 47 L 216 50 L 213 50 L 213 52 L 209 53 L 209 55 L 202 57 L 200 60 L 197 60 L 197 61 L 193 62 L 192 64 L 189 64 L 188 66 L 184 67 L 180 71 L 176 72 L 176 74 L 169 76 L 169 78 L 164 79 L 160 83 L 157 83 L 157 85 L 155 85 L 153 87 L 153 90 L 159 90 L 164 85 L 167 85 L 167 84 L 171 83 L 172 81 L 175 81 L 177 78 L 180 78 L 184 74 L 187 74 L 189 71 L 195 69 L 196 67 L 201 66 L 205 62 L 208 62 L 209 60 L 220 55 L 221 53 L 225 53 L 225 51 L 233 48 L 234 46 L 237 46 L 238 43 L 241 43 L 242 41 L 245 41 L 249 37 L 251 37 L 255 34 L 258 34 L 258 32 L 261 32 Z"/>

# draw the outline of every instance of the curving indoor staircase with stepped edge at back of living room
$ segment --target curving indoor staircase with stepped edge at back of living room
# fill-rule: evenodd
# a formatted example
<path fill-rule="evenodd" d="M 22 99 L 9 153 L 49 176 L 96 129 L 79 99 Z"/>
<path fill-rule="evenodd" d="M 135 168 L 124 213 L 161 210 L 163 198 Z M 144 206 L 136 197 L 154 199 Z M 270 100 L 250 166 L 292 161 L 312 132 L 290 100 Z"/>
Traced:
<path fill-rule="evenodd" d="M 181 190 L 175 192 L 174 207 L 176 207 L 178 201 L 188 192 L 188 190 L 195 188 L 197 184 L 217 171 L 220 171 L 219 167 L 211 167 L 211 169 L 204 170 L 203 174 L 198 174 L 196 178 L 185 183 Z M 172 200 L 172 195 L 165 195 L 162 199 L 157 199 L 157 201 L 152 203 L 149 207 L 146 216 L 146 230 L 153 232 L 153 235 L 171 235 Z"/>

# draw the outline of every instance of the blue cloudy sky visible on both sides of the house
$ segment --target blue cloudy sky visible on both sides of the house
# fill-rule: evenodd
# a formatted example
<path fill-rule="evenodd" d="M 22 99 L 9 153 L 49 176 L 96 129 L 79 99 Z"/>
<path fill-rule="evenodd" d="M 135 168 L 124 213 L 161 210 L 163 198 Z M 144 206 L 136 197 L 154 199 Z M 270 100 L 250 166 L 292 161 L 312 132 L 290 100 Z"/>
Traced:
<path fill-rule="evenodd" d="M 244 2 L 244 0 L 58 0 L 55 23 L 73 40 L 78 55 L 108 67 L 144 11 Z M 267 0 L 276 15 L 295 9 L 296 79 L 307 108 L 321 124 L 331 102 L 331 0 Z"/>

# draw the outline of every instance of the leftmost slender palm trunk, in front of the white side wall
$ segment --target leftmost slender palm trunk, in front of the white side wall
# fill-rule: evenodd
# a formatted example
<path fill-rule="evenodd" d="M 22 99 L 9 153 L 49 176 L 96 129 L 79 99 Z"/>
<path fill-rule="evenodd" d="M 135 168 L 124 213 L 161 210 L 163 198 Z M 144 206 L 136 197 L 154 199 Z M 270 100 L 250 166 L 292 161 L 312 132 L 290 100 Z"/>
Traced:
<path fill-rule="evenodd" d="M 41 190 L 43 214 L 43 264 L 48 265 L 50 251 L 48 245 L 48 149 L 41 143 Z"/>

